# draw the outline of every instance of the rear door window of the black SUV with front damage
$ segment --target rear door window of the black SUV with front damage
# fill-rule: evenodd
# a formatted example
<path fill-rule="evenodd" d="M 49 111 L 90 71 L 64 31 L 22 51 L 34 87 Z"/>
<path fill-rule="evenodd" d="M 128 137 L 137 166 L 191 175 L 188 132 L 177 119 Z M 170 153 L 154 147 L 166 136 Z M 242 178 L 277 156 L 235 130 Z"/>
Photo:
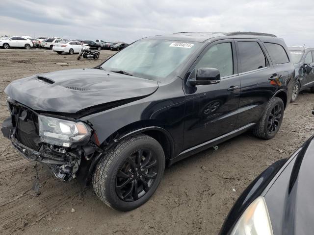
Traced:
<path fill-rule="evenodd" d="M 267 66 L 266 57 L 257 42 L 238 42 L 241 72 L 262 69 Z"/>

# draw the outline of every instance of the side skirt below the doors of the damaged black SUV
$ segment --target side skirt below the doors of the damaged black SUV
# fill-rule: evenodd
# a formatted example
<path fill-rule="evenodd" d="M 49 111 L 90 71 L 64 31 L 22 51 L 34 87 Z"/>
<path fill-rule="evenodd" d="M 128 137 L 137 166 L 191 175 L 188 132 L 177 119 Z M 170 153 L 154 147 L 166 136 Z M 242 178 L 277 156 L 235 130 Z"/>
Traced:
<path fill-rule="evenodd" d="M 231 138 L 234 138 L 235 136 L 240 135 L 240 134 L 246 132 L 248 129 L 253 127 L 255 124 L 256 123 L 247 124 L 245 126 L 242 126 L 242 127 L 238 128 L 238 129 L 232 131 L 232 132 L 229 132 L 229 133 L 227 133 L 225 135 L 219 136 L 219 137 L 217 137 L 215 139 L 212 139 L 210 141 L 207 141 L 207 142 L 201 143 L 199 145 L 196 145 L 194 147 L 191 147 L 189 149 L 186 149 L 183 152 L 181 152 L 177 157 L 174 157 L 174 158 L 170 159 L 169 162 L 168 162 L 168 165 L 172 165 L 172 164 L 174 164 L 174 163 L 176 163 L 176 162 L 178 162 L 178 161 L 180 161 L 180 160 L 182 160 L 184 158 L 187 158 L 187 157 L 192 156 L 194 154 L 197 154 L 197 153 L 199 153 L 199 152 L 201 152 L 201 151 L 203 151 L 205 149 L 208 149 L 208 148 L 210 148 L 212 146 L 215 146 L 215 145 L 217 145 L 217 144 L 219 144 L 221 142 L 224 142 L 224 141 L 227 141 L 227 140 L 229 140 Z"/>

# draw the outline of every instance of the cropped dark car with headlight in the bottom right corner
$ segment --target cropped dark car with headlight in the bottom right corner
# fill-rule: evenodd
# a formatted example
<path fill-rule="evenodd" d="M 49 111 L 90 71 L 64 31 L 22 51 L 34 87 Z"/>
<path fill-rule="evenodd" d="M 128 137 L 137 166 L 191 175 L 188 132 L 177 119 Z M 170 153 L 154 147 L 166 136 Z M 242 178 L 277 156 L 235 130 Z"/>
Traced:
<path fill-rule="evenodd" d="M 310 235 L 314 231 L 314 136 L 263 171 L 229 212 L 220 235 Z"/>

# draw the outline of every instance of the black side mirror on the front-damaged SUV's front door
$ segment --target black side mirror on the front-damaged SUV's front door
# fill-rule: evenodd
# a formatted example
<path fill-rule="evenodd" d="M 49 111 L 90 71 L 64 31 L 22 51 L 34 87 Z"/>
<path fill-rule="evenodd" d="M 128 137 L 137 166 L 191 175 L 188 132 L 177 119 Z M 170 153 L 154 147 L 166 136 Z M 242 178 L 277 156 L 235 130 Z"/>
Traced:
<path fill-rule="evenodd" d="M 220 82 L 220 72 L 215 68 L 199 68 L 196 79 L 188 81 L 192 86 L 209 85 Z"/>

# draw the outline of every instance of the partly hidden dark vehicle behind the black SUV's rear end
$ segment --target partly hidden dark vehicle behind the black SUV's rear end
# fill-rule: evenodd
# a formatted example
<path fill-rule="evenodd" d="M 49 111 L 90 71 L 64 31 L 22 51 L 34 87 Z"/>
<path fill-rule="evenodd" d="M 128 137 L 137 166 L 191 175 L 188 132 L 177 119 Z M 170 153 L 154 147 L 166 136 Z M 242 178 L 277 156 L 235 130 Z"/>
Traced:
<path fill-rule="evenodd" d="M 295 68 L 295 83 L 290 100 L 294 102 L 299 92 L 307 88 L 314 93 L 314 48 L 288 47 L 288 49 Z"/>

